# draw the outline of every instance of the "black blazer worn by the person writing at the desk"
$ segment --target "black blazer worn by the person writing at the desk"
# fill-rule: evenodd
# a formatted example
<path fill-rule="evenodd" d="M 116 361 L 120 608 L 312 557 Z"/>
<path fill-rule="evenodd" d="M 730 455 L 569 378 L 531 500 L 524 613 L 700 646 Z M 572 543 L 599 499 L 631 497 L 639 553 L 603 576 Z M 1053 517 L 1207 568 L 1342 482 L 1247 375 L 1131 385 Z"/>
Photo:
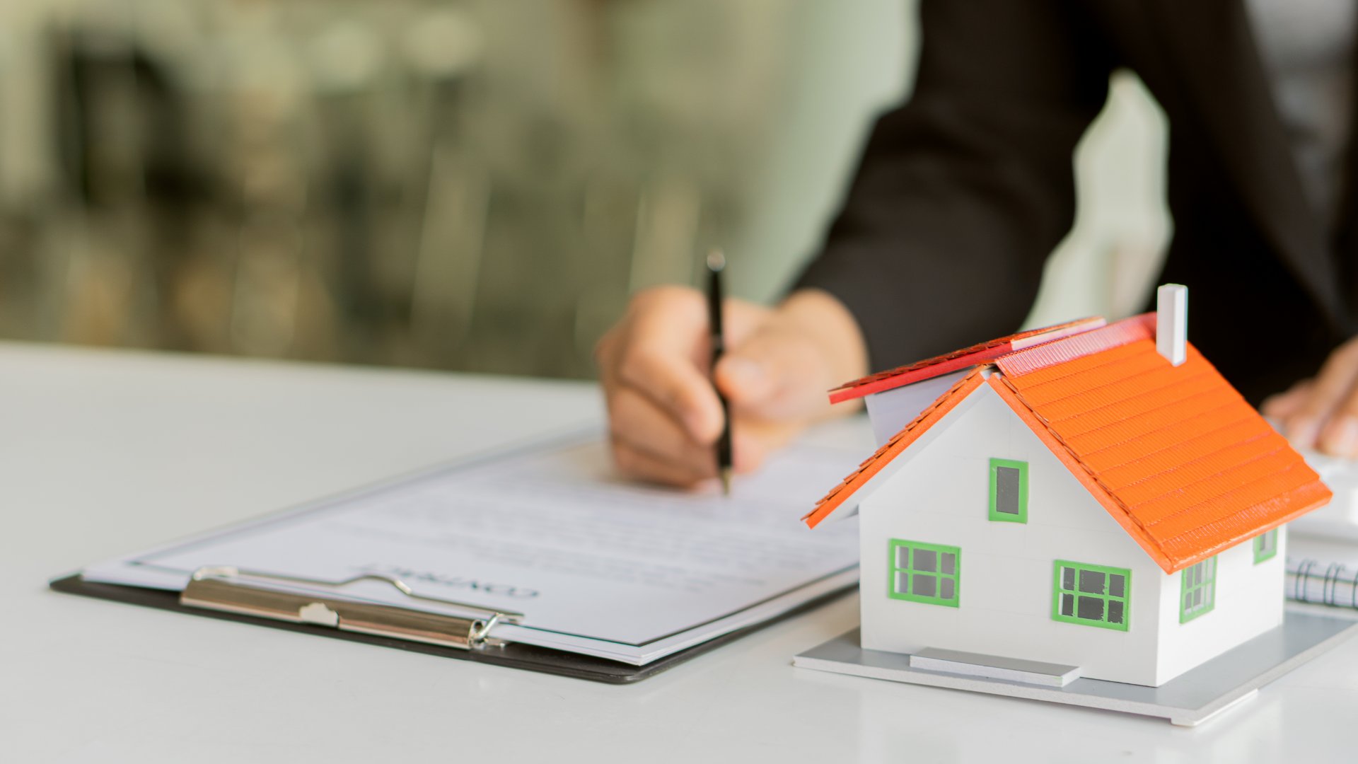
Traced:
<path fill-rule="evenodd" d="M 1240 0 L 922 0 L 921 23 L 914 94 L 799 280 L 853 310 L 875 368 L 1019 326 L 1119 67 L 1169 117 L 1160 283 L 1190 287 L 1190 340 L 1258 402 L 1354 333 L 1350 250 L 1302 194 Z"/>

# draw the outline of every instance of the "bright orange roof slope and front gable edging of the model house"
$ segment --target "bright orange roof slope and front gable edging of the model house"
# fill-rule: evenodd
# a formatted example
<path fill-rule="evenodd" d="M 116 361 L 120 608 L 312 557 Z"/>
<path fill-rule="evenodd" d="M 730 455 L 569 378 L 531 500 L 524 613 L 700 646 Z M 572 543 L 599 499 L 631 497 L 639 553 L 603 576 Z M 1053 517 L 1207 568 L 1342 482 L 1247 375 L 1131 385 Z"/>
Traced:
<path fill-rule="evenodd" d="M 1194 348 L 1158 352 L 1153 321 L 1002 356 L 990 386 L 1165 572 L 1329 500 L 1301 454 Z M 807 515 L 812 527 L 979 385 L 959 383 Z M 940 412 L 940 409 L 944 409 Z M 904 445 L 896 446 L 895 442 Z M 870 474 L 868 476 L 870 477 Z M 831 506 L 832 504 L 832 506 Z M 830 508 L 824 508 L 830 506 Z"/>

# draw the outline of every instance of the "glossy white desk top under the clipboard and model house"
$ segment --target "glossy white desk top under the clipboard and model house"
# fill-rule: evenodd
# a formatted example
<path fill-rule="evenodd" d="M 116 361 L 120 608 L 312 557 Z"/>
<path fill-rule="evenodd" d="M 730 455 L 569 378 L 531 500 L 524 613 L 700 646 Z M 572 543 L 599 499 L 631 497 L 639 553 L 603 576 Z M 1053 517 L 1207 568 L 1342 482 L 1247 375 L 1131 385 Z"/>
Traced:
<path fill-rule="evenodd" d="M 0 761 L 1358 760 L 1358 640 L 1177 729 L 792 669 L 853 598 L 610 687 L 45 589 L 599 412 L 581 383 L 0 344 Z"/>

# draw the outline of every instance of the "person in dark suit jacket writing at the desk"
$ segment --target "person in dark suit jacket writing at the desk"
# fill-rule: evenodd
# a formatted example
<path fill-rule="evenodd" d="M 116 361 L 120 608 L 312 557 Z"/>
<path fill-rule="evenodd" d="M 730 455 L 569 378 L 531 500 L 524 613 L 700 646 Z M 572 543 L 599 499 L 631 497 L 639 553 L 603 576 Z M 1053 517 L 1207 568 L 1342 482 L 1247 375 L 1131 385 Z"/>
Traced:
<path fill-rule="evenodd" d="M 1116 68 L 1169 121 L 1160 283 L 1190 287 L 1190 338 L 1296 445 L 1358 457 L 1355 20 L 1343 0 L 922 0 L 914 94 L 876 122 L 820 254 L 778 306 L 729 303 L 712 379 L 736 470 L 828 416 L 827 389 L 1019 326 Z M 705 332 L 702 295 L 661 287 L 600 340 L 623 472 L 714 474 Z"/>

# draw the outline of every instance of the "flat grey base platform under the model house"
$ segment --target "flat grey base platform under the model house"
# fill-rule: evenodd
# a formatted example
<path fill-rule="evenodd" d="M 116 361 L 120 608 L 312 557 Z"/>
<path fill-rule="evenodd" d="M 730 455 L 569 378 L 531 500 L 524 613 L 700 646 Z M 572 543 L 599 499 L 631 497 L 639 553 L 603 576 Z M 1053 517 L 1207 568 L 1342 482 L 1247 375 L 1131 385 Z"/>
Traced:
<path fill-rule="evenodd" d="M 860 647 L 858 629 L 794 657 L 792 665 L 837 674 L 1158 716 L 1173 725 L 1192 727 L 1249 700 L 1260 687 L 1354 633 L 1358 633 L 1358 621 L 1287 610 L 1281 627 L 1160 687 L 1090 678 L 1077 678 L 1065 687 L 1044 687 L 913 667 L 910 655 Z"/>

